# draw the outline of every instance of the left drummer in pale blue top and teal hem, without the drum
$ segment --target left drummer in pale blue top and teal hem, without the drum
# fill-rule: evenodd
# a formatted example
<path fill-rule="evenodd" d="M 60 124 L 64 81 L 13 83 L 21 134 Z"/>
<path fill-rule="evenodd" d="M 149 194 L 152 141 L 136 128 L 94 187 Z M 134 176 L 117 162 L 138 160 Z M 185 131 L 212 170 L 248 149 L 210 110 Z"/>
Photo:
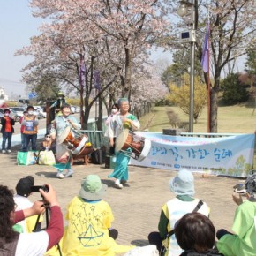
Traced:
<path fill-rule="evenodd" d="M 71 116 L 71 106 L 64 104 L 61 107 L 61 116 L 56 116 L 55 120 L 52 123 L 50 130 L 50 135 L 52 139 L 60 139 L 64 136 L 64 130 L 66 127 L 71 127 L 73 130 L 80 130 L 81 124 L 78 120 Z M 63 139 L 64 140 L 64 139 Z M 56 164 L 54 167 L 57 169 L 56 177 L 72 177 L 74 171 L 71 169 L 72 161 L 72 151 L 67 147 L 64 147 L 63 144 L 56 145 Z M 67 169 L 67 172 L 64 174 L 64 170 Z"/>

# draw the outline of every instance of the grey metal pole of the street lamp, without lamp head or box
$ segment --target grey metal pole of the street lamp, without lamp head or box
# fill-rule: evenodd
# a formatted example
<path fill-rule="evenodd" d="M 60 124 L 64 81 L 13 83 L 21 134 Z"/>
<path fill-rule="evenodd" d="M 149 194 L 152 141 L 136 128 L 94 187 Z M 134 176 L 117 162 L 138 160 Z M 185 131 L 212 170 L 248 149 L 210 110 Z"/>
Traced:
<path fill-rule="evenodd" d="M 195 2 L 192 7 L 192 31 L 195 31 Z M 193 132 L 193 110 L 194 110 L 194 71 L 195 71 L 195 42 L 191 42 L 191 69 L 190 69 L 190 110 L 189 110 L 189 132 Z"/>

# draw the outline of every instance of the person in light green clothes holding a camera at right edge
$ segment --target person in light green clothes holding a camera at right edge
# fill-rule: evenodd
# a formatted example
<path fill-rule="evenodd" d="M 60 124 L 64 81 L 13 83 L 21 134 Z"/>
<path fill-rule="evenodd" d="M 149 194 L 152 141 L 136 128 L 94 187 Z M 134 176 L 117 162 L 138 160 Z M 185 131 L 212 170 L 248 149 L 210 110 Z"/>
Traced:
<path fill-rule="evenodd" d="M 225 256 L 252 256 L 256 254 L 256 173 L 247 177 L 245 181 L 245 198 L 234 192 L 232 197 L 238 205 L 232 230 L 218 230 L 217 248 Z"/>

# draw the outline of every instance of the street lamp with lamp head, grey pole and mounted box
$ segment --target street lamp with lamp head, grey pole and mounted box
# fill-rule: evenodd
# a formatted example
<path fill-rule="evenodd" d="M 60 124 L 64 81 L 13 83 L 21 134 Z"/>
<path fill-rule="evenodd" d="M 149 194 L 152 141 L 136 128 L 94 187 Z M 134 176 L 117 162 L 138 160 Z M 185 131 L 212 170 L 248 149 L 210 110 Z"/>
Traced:
<path fill-rule="evenodd" d="M 180 1 L 180 6 L 177 14 L 182 18 L 190 15 L 189 25 L 190 31 L 181 34 L 181 38 L 185 42 L 190 42 L 191 45 L 191 63 L 190 63 L 190 109 L 189 109 L 189 132 L 193 132 L 193 109 L 194 109 L 194 70 L 195 70 L 195 31 L 196 31 L 196 13 L 197 13 L 197 0 Z"/>

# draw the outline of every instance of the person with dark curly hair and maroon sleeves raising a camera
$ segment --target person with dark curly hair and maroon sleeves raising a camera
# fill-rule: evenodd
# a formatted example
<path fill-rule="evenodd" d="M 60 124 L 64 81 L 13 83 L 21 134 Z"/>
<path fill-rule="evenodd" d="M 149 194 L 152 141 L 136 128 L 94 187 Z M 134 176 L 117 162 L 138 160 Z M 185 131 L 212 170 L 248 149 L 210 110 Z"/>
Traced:
<path fill-rule="evenodd" d="M 34 202 L 32 207 L 15 211 L 13 192 L 0 185 L 0 255 L 41 256 L 49 248 L 56 245 L 64 233 L 64 222 L 56 191 L 46 184 L 49 191 L 40 189 L 43 200 Z M 22 233 L 12 229 L 12 226 L 32 215 L 40 215 L 49 204 L 51 212 L 49 226 L 46 230 L 35 233 Z"/>

